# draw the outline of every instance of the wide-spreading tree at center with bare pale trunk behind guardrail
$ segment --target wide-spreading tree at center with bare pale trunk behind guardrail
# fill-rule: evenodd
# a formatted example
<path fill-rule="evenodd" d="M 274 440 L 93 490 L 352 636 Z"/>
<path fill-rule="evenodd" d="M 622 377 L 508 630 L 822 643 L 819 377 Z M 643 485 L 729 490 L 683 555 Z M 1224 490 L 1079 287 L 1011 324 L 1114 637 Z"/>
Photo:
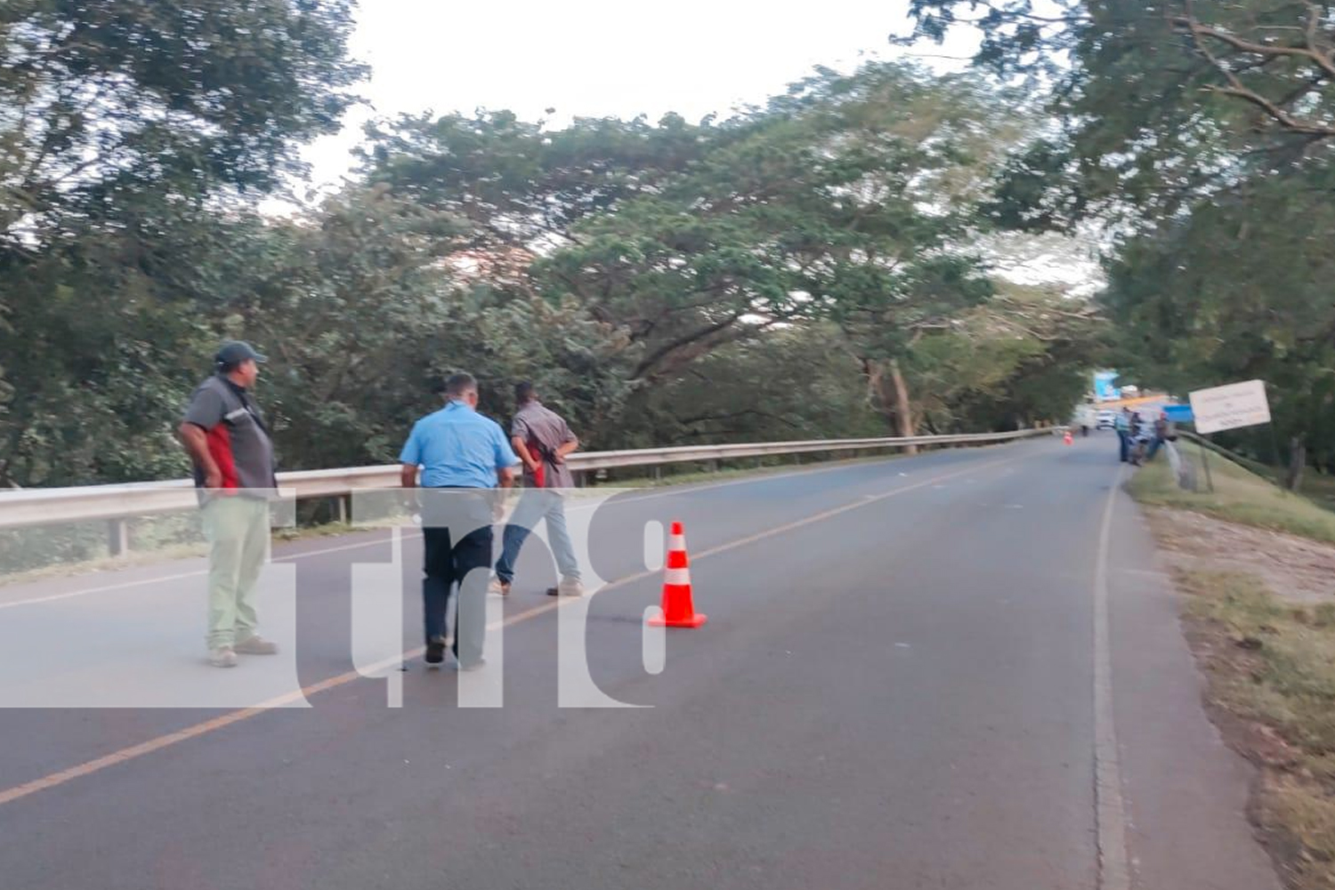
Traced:
<path fill-rule="evenodd" d="M 901 65 L 822 71 L 730 125 L 653 195 L 575 227 L 538 272 L 645 344 L 653 382 L 796 320 L 833 320 L 877 408 L 914 428 L 894 362 L 984 299 L 971 239 L 995 96 Z"/>

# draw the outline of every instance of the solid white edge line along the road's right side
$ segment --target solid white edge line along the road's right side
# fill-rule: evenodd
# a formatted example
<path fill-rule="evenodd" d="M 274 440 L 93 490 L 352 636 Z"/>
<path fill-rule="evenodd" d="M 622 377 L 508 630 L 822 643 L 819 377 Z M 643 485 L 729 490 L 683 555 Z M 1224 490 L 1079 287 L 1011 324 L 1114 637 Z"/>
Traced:
<path fill-rule="evenodd" d="M 1112 644 L 1108 631 L 1108 542 L 1112 511 L 1121 491 L 1121 467 L 1113 476 L 1099 527 L 1093 563 L 1093 794 L 1099 845 L 1099 889 L 1131 890 L 1127 862 L 1127 807 L 1121 798 L 1121 759 L 1112 707 Z"/>

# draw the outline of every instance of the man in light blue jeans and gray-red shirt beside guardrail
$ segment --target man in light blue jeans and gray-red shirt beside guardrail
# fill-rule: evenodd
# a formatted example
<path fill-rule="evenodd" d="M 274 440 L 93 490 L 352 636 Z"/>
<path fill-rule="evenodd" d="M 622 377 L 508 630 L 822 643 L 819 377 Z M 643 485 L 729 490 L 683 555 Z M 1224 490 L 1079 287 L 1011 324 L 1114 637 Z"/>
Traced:
<path fill-rule="evenodd" d="M 574 544 L 566 528 L 566 504 L 561 488 L 573 488 L 574 479 L 566 455 L 579 447 L 579 439 L 555 411 L 538 400 L 531 383 L 514 388 L 517 411 L 510 424 L 510 444 L 523 460 L 523 495 L 505 527 L 501 559 L 490 591 L 509 594 L 514 580 L 514 563 L 519 548 L 539 520 L 547 520 L 551 556 L 557 560 L 561 580 L 547 588 L 551 595 L 579 596 L 583 582 Z"/>

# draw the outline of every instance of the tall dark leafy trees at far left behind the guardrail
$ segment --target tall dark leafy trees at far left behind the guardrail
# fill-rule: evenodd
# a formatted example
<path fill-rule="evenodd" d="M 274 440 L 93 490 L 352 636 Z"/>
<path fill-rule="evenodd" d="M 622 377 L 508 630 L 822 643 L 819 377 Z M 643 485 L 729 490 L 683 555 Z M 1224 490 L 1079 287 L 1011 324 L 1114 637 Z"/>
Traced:
<path fill-rule="evenodd" d="M 342 0 L 0 9 L 0 484 L 179 470 L 200 307 L 247 252 L 228 196 L 338 127 L 350 28 Z"/>

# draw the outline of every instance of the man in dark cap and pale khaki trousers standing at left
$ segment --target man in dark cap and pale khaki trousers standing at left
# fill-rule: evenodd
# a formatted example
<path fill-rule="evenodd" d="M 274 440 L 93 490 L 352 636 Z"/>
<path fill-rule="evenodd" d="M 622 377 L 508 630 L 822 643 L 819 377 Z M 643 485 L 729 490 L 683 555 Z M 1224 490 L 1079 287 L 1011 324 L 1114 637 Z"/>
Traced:
<path fill-rule="evenodd" d="M 268 502 L 278 488 L 274 444 L 251 396 L 264 360 L 248 343 L 224 343 L 178 430 L 195 464 L 210 544 L 208 652 L 216 667 L 235 667 L 238 652 L 278 652 L 259 635 L 255 614 L 255 583 L 270 547 Z"/>

